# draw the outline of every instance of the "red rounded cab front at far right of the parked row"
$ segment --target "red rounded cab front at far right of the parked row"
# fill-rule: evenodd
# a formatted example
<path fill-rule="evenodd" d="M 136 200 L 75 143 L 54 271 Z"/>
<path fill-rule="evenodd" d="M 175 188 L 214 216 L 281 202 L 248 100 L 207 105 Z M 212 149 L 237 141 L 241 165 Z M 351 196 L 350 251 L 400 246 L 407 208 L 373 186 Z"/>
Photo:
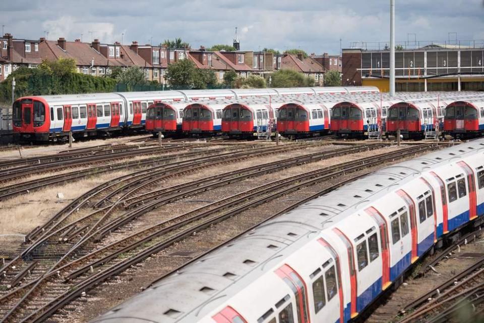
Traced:
<path fill-rule="evenodd" d="M 484 132 L 484 125 L 479 125 L 479 114 L 484 117 L 484 109 L 470 102 L 456 101 L 445 108 L 444 132 L 455 137 L 470 137 Z"/>

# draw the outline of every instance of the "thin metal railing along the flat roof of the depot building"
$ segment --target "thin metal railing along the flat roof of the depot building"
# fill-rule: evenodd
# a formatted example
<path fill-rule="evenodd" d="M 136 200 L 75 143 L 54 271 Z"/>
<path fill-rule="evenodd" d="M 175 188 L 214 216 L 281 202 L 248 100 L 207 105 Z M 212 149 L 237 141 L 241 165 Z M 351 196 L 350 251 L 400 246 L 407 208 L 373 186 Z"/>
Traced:
<path fill-rule="evenodd" d="M 469 48 L 484 48 L 484 40 L 416 40 L 416 41 L 399 41 L 395 43 L 396 50 L 410 50 L 419 48 L 435 48 L 435 49 L 469 49 Z M 355 41 L 349 45 L 351 49 L 362 50 L 390 50 L 389 41 L 367 42 Z"/>

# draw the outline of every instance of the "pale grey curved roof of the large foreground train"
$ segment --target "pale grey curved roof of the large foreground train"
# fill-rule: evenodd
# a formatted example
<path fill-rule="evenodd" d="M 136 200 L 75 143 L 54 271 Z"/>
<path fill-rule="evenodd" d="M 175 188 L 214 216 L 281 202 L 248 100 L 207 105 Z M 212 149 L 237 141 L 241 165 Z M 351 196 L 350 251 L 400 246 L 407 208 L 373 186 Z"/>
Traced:
<path fill-rule="evenodd" d="M 484 139 L 474 140 L 404 161 L 344 185 L 259 225 L 94 321 L 197 321 L 264 275 L 267 271 L 264 266 L 269 262 L 272 264 L 268 267 L 272 268 L 284 261 L 320 232 L 398 190 L 421 172 L 440 167 L 453 158 L 484 153 L 482 148 Z"/>

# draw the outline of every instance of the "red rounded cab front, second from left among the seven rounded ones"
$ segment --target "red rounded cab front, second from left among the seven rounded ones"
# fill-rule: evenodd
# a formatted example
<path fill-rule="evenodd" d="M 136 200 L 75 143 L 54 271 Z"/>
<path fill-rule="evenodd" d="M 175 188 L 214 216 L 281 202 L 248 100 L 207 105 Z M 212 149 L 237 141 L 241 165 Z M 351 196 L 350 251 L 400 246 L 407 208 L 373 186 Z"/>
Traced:
<path fill-rule="evenodd" d="M 220 131 L 220 127 L 214 127 L 214 111 L 205 104 L 192 103 L 183 111 L 183 132 L 192 134 L 213 133 Z"/>

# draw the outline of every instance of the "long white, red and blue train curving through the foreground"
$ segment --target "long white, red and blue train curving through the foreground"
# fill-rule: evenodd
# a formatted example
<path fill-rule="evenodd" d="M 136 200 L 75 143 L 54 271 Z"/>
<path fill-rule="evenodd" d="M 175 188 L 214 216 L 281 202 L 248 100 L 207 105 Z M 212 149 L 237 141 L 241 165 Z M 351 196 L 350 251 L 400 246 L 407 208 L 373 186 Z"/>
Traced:
<path fill-rule="evenodd" d="M 484 217 L 484 139 L 305 202 L 92 322 L 347 322 Z"/>

